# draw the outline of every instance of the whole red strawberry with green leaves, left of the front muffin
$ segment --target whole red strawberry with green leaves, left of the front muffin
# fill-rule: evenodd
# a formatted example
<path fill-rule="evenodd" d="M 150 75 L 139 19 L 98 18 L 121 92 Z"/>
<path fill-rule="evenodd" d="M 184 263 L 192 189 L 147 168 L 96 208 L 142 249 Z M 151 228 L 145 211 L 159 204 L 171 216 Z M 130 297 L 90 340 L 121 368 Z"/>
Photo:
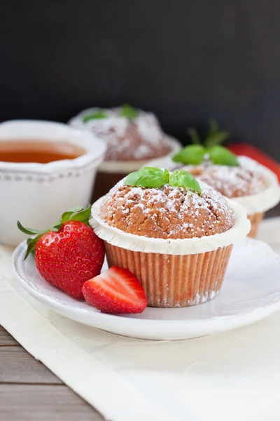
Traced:
<path fill-rule="evenodd" d="M 104 243 L 87 225 L 89 215 L 90 206 L 71 209 L 45 232 L 26 229 L 18 222 L 26 234 L 38 234 L 27 248 L 27 255 L 35 249 L 38 272 L 73 298 L 83 298 L 83 284 L 100 274 L 104 262 Z"/>

